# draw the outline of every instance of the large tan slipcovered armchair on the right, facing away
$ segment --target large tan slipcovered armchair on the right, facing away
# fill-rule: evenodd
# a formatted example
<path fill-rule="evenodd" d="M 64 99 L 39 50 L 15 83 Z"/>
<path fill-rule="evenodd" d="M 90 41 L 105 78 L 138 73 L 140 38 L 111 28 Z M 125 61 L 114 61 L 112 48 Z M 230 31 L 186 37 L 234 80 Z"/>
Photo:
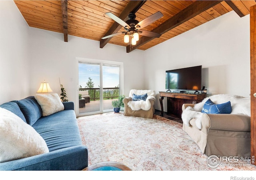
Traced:
<path fill-rule="evenodd" d="M 202 114 L 200 116 L 194 114 L 189 124 L 183 123 L 182 129 L 198 144 L 202 153 L 207 156 L 250 157 L 250 114 L 246 113 L 244 103 L 244 101 L 250 103 L 250 100 L 238 99 L 230 100 L 233 114 Z M 239 107 L 235 102 L 241 102 L 243 107 Z M 195 104 L 183 104 L 182 110 L 183 112 L 188 109 L 192 111 L 195 106 Z M 237 109 L 240 112 L 236 113 Z M 201 120 L 201 129 L 198 128 L 198 118 Z"/>

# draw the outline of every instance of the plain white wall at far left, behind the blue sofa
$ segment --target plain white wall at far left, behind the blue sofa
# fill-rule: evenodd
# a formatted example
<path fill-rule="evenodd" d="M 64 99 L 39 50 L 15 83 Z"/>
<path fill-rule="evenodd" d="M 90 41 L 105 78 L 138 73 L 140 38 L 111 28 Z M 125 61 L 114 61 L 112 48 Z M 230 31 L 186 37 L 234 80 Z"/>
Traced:
<path fill-rule="evenodd" d="M 13 1 L 0 1 L 0 104 L 30 94 L 28 24 Z"/>

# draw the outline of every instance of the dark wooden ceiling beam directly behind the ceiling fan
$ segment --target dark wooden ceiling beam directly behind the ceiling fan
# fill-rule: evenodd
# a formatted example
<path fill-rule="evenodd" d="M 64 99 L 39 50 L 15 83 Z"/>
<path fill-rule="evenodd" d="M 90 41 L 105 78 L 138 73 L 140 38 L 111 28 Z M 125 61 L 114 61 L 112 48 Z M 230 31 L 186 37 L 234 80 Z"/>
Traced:
<path fill-rule="evenodd" d="M 121 12 L 121 14 L 118 16 L 118 18 L 122 19 L 125 22 L 126 20 L 128 20 L 128 14 L 130 14 L 131 12 L 133 13 L 137 12 L 145 2 L 146 0 L 130 1 L 127 4 L 127 6 L 124 8 L 124 10 Z M 122 26 L 120 24 L 118 24 L 117 22 L 114 22 L 104 36 L 117 33 L 121 28 Z M 111 38 L 100 39 L 100 48 L 103 48 L 110 40 Z"/>

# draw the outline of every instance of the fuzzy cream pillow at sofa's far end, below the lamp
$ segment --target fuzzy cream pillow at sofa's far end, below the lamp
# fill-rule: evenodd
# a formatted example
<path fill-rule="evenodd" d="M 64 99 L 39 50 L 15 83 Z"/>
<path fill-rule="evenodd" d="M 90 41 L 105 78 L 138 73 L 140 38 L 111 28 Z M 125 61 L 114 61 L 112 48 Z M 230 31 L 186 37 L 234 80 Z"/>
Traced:
<path fill-rule="evenodd" d="M 60 97 L 57 93 L 54 94 L 36 94 L 35 99 L 40 104 L 43 116 L 49 116 L 56 112 L 64 110 Z"/>

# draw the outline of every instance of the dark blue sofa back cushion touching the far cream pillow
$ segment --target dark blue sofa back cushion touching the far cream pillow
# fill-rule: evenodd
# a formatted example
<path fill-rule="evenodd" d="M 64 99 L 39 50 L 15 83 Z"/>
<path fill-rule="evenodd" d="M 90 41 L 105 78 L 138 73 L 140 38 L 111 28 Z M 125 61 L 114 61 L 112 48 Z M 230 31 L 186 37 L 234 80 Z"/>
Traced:
<path fill-rule="evenodd" d="M 34 96 L 18 100 L 16 103 L 20 107 L 21 112 L 24 114 L 26 121 L 30 126 L 42 116 L 42 109 Z"/>

